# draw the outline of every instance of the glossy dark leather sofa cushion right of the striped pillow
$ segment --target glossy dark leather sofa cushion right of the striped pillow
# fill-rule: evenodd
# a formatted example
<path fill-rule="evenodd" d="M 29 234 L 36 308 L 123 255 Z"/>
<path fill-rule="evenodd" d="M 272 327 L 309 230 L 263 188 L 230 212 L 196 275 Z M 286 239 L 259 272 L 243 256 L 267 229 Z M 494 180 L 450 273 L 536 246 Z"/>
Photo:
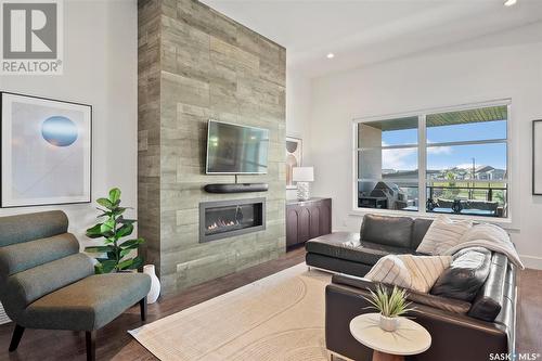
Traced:
<path fill-rule="evenodd" d="M 491 266 L 491 252 L 465 248 L 453 256 L 452 265 L 433 286 L 431 294 L 472 301 L 483 285 Z"/>

